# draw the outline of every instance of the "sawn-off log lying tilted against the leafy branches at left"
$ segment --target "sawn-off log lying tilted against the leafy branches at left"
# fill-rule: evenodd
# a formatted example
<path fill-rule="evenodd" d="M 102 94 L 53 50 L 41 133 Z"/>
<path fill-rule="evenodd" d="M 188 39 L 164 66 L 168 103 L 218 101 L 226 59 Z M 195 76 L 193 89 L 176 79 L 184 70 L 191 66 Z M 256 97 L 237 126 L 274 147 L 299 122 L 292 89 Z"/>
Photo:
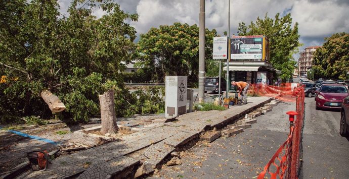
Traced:
<path fill-rule="evenodd" d="M 51 91 L 45 90 L 41 92 L 42 99 L 49 105 L 52 112 L 61 112 L 65 109 L 63 102 Z"/>

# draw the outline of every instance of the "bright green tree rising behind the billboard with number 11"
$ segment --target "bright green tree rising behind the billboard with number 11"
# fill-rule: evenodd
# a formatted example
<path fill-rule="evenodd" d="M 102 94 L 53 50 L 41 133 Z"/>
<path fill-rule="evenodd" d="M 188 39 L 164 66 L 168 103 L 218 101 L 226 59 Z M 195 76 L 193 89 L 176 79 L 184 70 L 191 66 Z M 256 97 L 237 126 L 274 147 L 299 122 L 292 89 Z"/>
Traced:
<path fill-rule="evenodd" d="M 255 22 L 246 26 L 244 22 L 239 23 L 239 35 L 264 35 L 270 43 L 270 63 L 282 72 L 283 80 L 289 79 L 295 68 L 296 62 L 292 55 L 298 52 L 301 45 L 298 41 L 298 23 L 292 28 L 291 14 L 284 17 L 275 15 L 275 19 L 269 18 L 266 14 L 264 19 L 259 17 Z"/>

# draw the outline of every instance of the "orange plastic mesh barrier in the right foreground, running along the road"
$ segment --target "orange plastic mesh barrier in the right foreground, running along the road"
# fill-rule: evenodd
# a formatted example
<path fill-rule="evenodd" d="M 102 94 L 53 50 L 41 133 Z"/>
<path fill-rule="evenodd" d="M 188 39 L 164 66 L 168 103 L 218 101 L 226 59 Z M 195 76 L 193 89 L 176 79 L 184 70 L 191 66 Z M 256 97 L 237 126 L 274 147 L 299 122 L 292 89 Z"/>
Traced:
<path fill-rule="evenodd" d="M 292 92 L 293 93 L 293 92 Z M 304 88 L 294 90 L 296 103 L 296 120 L 291 122 L 290 134 L 287 140 L 276 151 L 271 160 L 259 173 L 262 178 L 298 178 L 300 172 L 300 159 L 302 157 L 302 129 L 304 123 Z"/>

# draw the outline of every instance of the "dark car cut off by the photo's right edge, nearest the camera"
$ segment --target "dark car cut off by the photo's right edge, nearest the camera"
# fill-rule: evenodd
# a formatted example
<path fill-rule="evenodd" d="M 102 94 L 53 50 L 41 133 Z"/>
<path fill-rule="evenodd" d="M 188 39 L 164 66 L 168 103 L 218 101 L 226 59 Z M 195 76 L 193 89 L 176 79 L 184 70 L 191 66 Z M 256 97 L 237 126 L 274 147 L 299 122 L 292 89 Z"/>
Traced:
<path fill-rule="evenodd" d="M 340 108 L 339 134 L 343 137 L 349 136 L 349 96 L 343 100 Z"/>

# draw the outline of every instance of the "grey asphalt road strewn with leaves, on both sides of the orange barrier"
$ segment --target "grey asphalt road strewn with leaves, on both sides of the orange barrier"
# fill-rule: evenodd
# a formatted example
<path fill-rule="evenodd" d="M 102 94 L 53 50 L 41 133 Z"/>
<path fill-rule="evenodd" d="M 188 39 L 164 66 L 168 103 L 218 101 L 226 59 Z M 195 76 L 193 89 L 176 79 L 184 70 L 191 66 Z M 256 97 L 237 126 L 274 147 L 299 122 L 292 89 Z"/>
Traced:
<path fill-rule="evenodd" d="M 183 164 L 163 166 L 155 177 L 255 178 L 263 170 L 289 132 L 286 111 L 295 103 L 279 103 L 243 133 L 199 143 L 185 152 Z M 348 178 L 349 140 L 339 136 L 340 113 L 315 110 L 314 98 L 306 98 L 303 131 L 303 167 L 299 178 Z"/>

